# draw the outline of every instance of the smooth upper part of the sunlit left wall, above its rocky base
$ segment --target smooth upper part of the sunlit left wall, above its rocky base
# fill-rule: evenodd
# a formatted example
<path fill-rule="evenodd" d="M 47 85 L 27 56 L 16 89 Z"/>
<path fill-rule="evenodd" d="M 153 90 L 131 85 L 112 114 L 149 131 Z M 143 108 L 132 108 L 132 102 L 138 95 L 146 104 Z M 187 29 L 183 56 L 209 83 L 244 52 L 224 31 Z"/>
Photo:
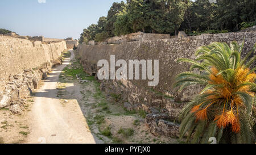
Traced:
<path fill-rule="evenodd" d="M 66 48 L 65 41 L 42 44 L 41 41 L 0 36 L 0 77 L 6 78 L 56 60 Z"/>

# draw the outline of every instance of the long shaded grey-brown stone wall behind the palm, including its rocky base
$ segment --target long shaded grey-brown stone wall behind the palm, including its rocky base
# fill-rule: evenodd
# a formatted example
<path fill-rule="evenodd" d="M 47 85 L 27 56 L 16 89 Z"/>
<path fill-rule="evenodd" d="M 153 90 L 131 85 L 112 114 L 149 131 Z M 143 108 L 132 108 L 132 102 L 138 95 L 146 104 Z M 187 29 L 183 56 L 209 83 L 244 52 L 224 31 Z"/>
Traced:
<path fill-rule="evenodd" d="M 242 43 L 243 39 L 245 39 L 244 51 L 249 51 L 256 43 L 256 32 L 220 33 L 181 39 L 134 41 L 117 45 L 89 46 L 82 44 L 79 45 L 78 52 L 85 71 L 95 76 L 97 76 L 97 70 L 99 69 L 97 68 L 97 62 L 102 59 L 110 61 L 110 55 L 115 55 L 115 60 L 122 59 L 126 62 L 128 60 L 159 60 L 158 86 L 149 87 L 147 80 L 122 80 L 101 81 L 101 88 L 107 94 L 113 92 L 122 94 L 122 100 L 129 109 L 143 109 L 152 113 L 147 115 L 146 119 L 152 133 L 178 136 L 177 129 L 179 125 L 172 123 L 172 121 L 176 119 L 180 109 L 184 106 L 183 101 L 190 100 L 193 95 L 200 92 L 201 87 L 191 87 L 183 92 L 177 92 L 172 87 L 176 75 L 188 71 L 190 67 L 189 64 L 184 62 L 177 63 L 177 60 L 179 58 L 195 58 L 193 54 L 196 49 L 203 45 L 209 45 L 213 41 L 231 43 L 236 40 L 238 43 Z M 167 129 L 171 130 L 168 131 Z"/>

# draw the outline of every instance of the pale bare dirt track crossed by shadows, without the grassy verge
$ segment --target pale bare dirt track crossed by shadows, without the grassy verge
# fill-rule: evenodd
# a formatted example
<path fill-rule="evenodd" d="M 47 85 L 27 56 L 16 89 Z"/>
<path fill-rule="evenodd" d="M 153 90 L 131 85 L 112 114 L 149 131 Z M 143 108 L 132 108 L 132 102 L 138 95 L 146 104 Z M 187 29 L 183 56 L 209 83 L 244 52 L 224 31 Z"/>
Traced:
<path fill-rule="evenodd" d="M 60 73 L 73 58 L 74 53 L 71 51 L 71 58 L 66 58 L 63 65 L 53 69 L 40 89 L 36 90 L 34 104 L 28 113 L 31 119 L 28 122 L 28 143 L 97 143 L 89 131 L 79 103 L 73 100 L 68 106 L 63 106 L 63 99 L 57 97 Z"/>

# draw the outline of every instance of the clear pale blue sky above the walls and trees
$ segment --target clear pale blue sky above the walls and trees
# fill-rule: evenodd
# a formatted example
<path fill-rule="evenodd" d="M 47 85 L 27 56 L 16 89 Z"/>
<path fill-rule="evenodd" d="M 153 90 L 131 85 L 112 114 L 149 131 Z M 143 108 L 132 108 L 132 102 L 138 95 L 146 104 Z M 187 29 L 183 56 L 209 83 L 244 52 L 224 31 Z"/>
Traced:
<path fill-rule="evenodd" d="M 1 0 L 0 28 L 24 36 L 78 39 L 84 28 L 108 14 L 113 2 L 121 0 Z"/>

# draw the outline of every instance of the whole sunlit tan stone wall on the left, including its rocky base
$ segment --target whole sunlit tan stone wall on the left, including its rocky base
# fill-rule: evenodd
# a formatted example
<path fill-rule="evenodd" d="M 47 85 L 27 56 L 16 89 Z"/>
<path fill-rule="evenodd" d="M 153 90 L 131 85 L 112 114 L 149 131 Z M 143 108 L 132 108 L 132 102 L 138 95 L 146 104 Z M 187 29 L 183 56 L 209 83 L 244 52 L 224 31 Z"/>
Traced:
<path fill-rule="evenodd" d="M 65 41 L 42 43 L 0 36 L 0 108 L 20 114 L 26 98 L 46 78 L 66 49 Z"/>

